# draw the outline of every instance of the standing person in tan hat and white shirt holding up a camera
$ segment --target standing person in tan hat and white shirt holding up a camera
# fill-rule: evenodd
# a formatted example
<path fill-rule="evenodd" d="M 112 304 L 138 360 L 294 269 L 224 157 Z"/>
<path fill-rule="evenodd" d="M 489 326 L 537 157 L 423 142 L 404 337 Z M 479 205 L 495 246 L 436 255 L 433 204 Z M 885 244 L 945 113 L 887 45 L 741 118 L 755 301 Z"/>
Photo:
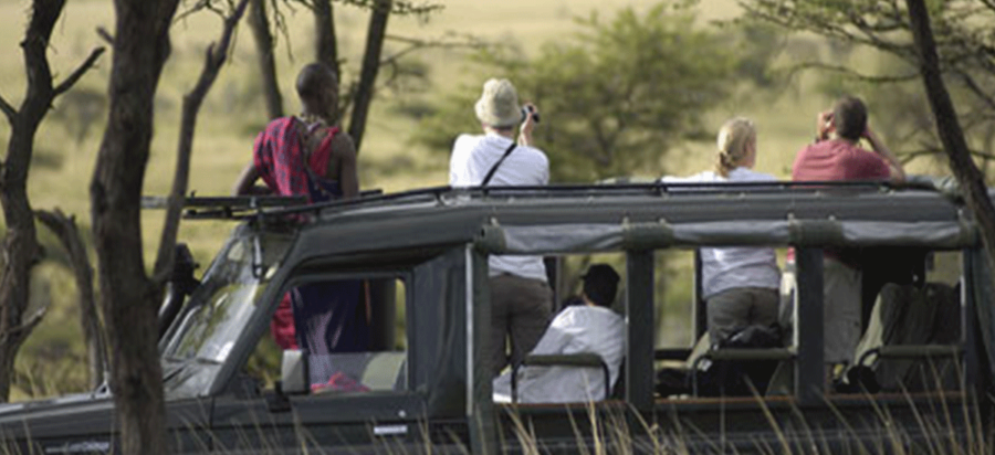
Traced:
<path fill-rule="evenodd" d="M 538 187 L 549 182 L 549 161 L 532 147 L 535 106 L 519 104 L 507 80 L 490 80 L 475 105 L 483 135 L 463 134 L 452 146 L 453 187 Z M 521 134 L 515 142 L 515 129 Z M 553 292 L 540 256 L 491 256 L 491 343 L 488 366 L 498 375 L 509 360 L 521 362 L 538 342 L 553 311 Z M 511 359 L 506 352 L 511 336 Z"/>

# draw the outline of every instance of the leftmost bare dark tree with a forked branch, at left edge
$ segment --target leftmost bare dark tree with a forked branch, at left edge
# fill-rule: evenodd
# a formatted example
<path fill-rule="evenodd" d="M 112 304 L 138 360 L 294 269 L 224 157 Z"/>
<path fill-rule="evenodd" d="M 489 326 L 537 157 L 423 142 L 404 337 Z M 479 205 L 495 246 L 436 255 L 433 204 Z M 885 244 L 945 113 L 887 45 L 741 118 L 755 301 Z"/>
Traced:
<path fill-rule="evenodd" d="M 59 85 L 53 83 L 46 52 L 64 7 L 65 0 L 32 1 L 31 19 L 21 42 L 28 75 L 24 98 L 15 108 L 0 97 L 0 110 L 11 126 L 7 157 L 0 162 L 0 204 L 7 223 L 0 274 L 0 401 L 7 401 L 10 394 L 14 357 L 43 315 L 27 314 L 31 271 L 41 255 L 27 189 L 34 136 L 55 97 L 69 91 L 103 53 L 103 47 L 94 50 L 69 77 Z"/>

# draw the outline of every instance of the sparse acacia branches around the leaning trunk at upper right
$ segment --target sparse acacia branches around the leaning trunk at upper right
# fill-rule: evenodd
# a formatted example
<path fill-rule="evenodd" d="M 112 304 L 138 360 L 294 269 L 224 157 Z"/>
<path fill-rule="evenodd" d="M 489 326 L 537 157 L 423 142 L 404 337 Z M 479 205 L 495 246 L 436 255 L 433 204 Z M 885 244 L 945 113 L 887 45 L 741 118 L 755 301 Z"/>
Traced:
<path fill-rule="evenodd" d="M 741 0 L 740 4 L 747 20 L 786 31 L 814 32 L 828 38 L 835 49 L 873 49 L 889 56 L 883 65 L 862 65 L 860 70 L 844 60 L 826 62 L 817 55 L 797 66 L 872 84 L 868 97 L 889 107 L 876 118 L 896 125 L 893 129 L 901 134 L 893 139 L 908 144 L 910 149 L 901 150 L 908 158 L 945 156 L 942 138 L 930 125 L 930 104 L 922 87 L 915 85 L 921 80 L 920 47 L 913 41 L 912 18 L 903 0 Z M 935 1 L 928 2 L 926 11 L 935 30 L 938 67 L 946 81 L 955 83 L 949 93 L 957 103 L 968 151 L 984 162 L 995 160 L 995 35 L 991 33 L 995 2 Z"/>

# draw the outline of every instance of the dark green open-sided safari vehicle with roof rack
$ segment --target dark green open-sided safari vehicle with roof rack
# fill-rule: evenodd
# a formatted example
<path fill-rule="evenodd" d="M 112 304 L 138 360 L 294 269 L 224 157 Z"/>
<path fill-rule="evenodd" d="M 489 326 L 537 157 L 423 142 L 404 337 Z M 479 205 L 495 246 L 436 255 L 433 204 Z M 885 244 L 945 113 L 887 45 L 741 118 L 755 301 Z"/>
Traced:
<path fill-rule="evenodd" d="M 878 183 L 658 183 L 438 188 L 300 207 L 260 202 L 201 200 L 189 212 L 240 224 L 168 318 L 160 340 L 175 453 L 991 449 L 991 274 L 974 222 L 955 198 L 938 191 Z M 722 245 L 794 248 L 794 336 L 785 347 L 711 348 L 695 366 L 769 360 L 793 374 L 781 393 L 702 396 L 691 384 L 691 392 L 664 396 L 657 371 L 691 355 L 704 332 L 705 307 L 693 295 L 668 293 L 681 278 L 663 264 L 693 263 L 698 247 Z M 922 278 L 957 289 L 947 341 L 889 345 L 882 337 L 886 342 L 860 359 L 870 367 L 919 366 L 933 385 L 827 387 L 823 342 L 831 334 L 821 325 L 821 258 L 824 248 L 839 246 L 922 252 L 932 263 Z M 627 339 L 621 379 L 607 400 L 493 402 L 491 377 L 480 368 L 490 330 L 491 254 L 617 261 Z M 699 275 L 682 286 L 700 286 Z M 261 360 L 272 349 L 270 321 L 284 294 L 350 279 L 370 283 L 368 317 L 377 327 L 370 351 L 291 350 L 279 367 Z M 557 299 L 569 292 L 557 287 Z M 691 320 L 668 314 L 680 305 L 690 306 Z M 663 343 L 658 324 L 691 327 L 689 339 Z M 315 366 L 329 363 L 349 372 L 348 387 L 321 387 L 328 378 L 314 375 L 327 369 Z M 689 378 L 699 381 L 698 370 Z M 0 408 L 10 453 L 114 453 L 116 431 L 105 390 Z"/>

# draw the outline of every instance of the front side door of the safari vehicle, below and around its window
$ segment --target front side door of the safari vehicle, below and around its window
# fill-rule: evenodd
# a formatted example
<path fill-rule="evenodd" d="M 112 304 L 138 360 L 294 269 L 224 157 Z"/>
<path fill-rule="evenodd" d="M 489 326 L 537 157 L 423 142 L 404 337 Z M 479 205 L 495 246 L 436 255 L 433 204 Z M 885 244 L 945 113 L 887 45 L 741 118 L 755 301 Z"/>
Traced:
<path fill-rule="evenodd" d="M 287 282 L 287 293 L 298 296 L 318 287 L 329 293 L 355 293 L 342 316 L 331 311 L 326 322 L 338 324 L 328 337 L 353 336 L 348 324 L 373 330 L 366 349 L 353 352 L 305 353 L 304 390 L 289 391 L 281 379 L 283 349 L 269 328 L 260 334 L 255 351 L 233 379 L 231 393 L 214 403 L 212 435 L 221 449 L 269 453 L 273 449 L 377 449 L 413 444 L 418 421 L 425 415 L 425 393 L 415 390 L 413 356 L 405 328 L 411 316 L 412 274 L 405 269 L 336 271 L 301 274 Z M 352 290 L 348 290 L 352 289 Z M 357 292 L 358 289 L 358 292 Z M 313 297 L 308 297 L 313 298 Z M 294 300 L 296 301 L 296 300 Z M 308 300 L 295 305 L 324 305 Z M 337 301 L 335 305 L 342 305 Z M 301 308 L 294 307 L 295 311 Z M 339 308 L 342 309 L 342 308 Z M 303 313 L 303 311 L 301 311 Z M 301 325 L 296 325 L 297 328 Z M 295 329 L 296 330 L 296 329 Z M 300 337 L 306 335 L 297 334 Z M 287 352 L 298 352 L 289 350 Z"/>

